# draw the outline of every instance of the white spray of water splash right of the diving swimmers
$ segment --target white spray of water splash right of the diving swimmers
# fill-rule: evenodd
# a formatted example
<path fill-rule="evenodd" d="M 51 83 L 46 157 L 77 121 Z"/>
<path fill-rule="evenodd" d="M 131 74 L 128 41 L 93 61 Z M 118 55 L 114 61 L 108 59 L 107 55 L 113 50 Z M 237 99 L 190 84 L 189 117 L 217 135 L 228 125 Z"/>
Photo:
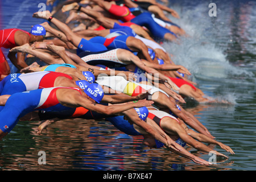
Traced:
<path fill-rule="evenodd" d="M 174 20 L 189 35 L 180 39 L 180 44 L 164 42 L 163 47 L 171 53 L 175 64 L 184 65 L 198 79 L 216 81 L 220 78 L 253 78 L 253 72 L 230 64 L 225 49 L 220 44 L 228 44 L 216 35 L 223 30 L 225 22 L 208 16 L 207 3 L 195 5 L 193 10 L 183 11 L 181 19 Z M 179 8 L 177 8 L 179 9 Z M 222 13 L 218 9 L 218 13 Z M 196 19 L 196 21 L 195 21 Z M 228 34 L 225 30 L 224 34 Z M 224 46 L 226 48 L 226 46 Z"/>

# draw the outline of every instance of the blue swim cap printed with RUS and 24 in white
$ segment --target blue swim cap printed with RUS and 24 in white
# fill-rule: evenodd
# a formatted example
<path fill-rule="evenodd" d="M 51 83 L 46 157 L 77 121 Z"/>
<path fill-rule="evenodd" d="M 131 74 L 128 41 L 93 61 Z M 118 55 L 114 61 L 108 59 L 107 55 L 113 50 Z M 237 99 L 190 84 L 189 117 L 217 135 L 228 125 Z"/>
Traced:
<path fill-rule="evenodd" d="M 89 96 L 98 103 L 100 103 L 104 96 L 104 91 L 99 84 L 89 84 L 88 86 L 86 86 L 84 92 L 87 94 L 87 96 Z"/>

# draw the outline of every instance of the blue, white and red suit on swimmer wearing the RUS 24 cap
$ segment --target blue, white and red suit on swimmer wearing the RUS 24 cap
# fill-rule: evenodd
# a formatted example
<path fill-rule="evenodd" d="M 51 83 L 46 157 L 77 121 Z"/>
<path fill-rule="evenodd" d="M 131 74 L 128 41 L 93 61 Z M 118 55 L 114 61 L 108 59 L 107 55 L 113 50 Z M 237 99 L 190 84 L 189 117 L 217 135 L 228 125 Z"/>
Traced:
<path fill-rule="evenodd" d="M 9 97 L 2 111 L 0 111 L 0 129 L 5 133 L 10 133 L 18 123 L 19 118 L 31 111 L 63 111 L 71 109 L 71 107 L 61 105 L 57 100 L 56 91 L 61 88 L 83 92 L 80 88 L 75 87 L 53 87 L 14 93 Z"/>

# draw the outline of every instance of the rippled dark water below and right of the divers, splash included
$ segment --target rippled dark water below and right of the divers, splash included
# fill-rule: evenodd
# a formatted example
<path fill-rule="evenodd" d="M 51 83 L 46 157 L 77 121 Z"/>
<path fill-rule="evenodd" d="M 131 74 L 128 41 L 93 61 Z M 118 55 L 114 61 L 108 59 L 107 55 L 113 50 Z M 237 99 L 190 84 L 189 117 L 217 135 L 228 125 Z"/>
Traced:
<path fill-rule="evenodd" d="M 213 166 L 200 166 L 164 149 L 149 150 L 141 137 L 125 135 L 105 121 L 66 120 L 36 134 L 39 122 L 19 122 L 0 142 L 2 170 L 204 170 L 256 169 L 255 45 L 256 3 L 212 1 L 217 16 L 210 17 L 205 1 L 173 1 L 181 19 L 173 19 L 190 35 L 180 45 L 164 43 L 176 64 L 193 74 L 208 96 L 232 105 L 184 105 L 216 140 L 230 146 L 229 156 Z M 187 148 L 209 160 L 209 155 Z M 39 151 L 46 164 L 38 164 Z"/>

